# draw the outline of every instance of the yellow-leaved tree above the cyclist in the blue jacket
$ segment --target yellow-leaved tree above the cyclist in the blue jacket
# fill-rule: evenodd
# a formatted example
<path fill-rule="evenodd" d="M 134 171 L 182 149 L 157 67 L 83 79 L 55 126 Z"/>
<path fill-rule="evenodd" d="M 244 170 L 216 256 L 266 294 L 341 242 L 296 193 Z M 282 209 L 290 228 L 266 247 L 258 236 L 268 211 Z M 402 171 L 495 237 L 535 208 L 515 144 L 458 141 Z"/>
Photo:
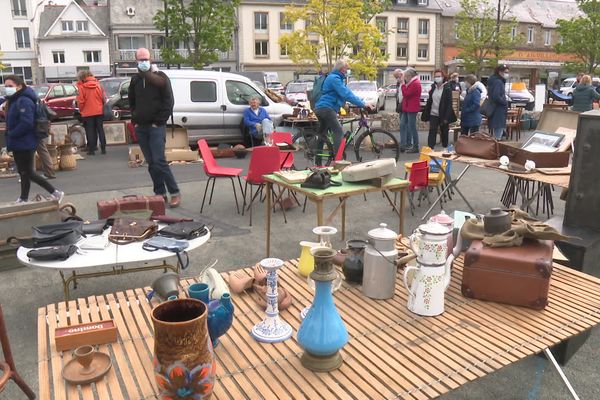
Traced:
<path fill-rule="evenodd" d="M 353 74 L 374 78 L 387 57 L 381 51 L 386 34 L 372 19 L 389 4 L 389 0 L 308 0 L 303 6 L 289 6 L 288 21 L 308 24 L 282 35 L 279 45 L 287 47 L 296 64 L 331 71 L 337 59 L 348 57 Z"/>

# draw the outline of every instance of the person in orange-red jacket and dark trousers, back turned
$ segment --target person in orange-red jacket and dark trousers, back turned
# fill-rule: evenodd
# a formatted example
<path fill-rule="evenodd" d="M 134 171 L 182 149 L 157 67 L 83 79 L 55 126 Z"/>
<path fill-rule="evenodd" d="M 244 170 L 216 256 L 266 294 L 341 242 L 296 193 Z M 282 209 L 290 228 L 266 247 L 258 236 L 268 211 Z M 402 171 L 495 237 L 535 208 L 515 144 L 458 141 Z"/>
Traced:
<path fill-rule="evenodd" d="M 98 149 L 98 138 L 100 138 L 100 150 L 106 154 L 106 136 L 104 135 L 104 101 L 106 96 L 98 79 L 89 71 L 79 73 L 77 88 L 77 105 L 83 117 L 85 136 L 87 139 L 87 153 L 95 155 Z"/>

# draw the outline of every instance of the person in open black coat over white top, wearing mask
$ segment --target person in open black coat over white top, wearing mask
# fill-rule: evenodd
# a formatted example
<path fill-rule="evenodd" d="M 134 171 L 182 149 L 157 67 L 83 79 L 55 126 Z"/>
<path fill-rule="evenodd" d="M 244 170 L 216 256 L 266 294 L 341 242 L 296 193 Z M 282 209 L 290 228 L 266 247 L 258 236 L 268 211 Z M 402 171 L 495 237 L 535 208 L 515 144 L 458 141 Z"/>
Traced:
<path fill-rule="evenodd" d="M 433 73 L 433 82 L 421 120 L 429 121 L 427 145 L 432 149 L 435 148 L 439 130 L 442 147 L 447 148 L 449 125 L 456 121 L 456 114 L 452 108 L 452 91 L 455 82 L 445 82 L 444 72 L 439 69 Z"/>

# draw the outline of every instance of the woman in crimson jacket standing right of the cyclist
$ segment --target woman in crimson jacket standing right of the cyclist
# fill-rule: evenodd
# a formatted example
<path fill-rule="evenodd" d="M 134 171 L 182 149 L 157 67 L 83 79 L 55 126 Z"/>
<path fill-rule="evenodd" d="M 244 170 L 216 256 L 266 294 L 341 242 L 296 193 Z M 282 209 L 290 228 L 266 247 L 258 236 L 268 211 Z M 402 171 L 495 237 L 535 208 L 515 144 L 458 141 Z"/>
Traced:
<path fill-rule="evenodd" d="M 402 90 L 402 115 L 400 116 L 400 151 L 419 152 L 417 113 L 421 111 L 421 81 L 414 68 L 404 71 Z"/>

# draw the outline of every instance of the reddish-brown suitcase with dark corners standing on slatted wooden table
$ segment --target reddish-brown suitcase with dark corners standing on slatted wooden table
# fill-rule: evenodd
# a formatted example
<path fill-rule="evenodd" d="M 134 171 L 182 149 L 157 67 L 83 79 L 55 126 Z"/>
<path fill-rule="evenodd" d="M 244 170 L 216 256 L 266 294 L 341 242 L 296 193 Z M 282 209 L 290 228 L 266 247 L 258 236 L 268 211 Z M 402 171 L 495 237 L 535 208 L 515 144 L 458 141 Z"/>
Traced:
<path fill-rule="evenodd" d="M 519 247 L 486 247 L 473 240 L 465 254 L 464 296 L 542 310 L 552 275 L 551 240 L 524 240 Z"/>

